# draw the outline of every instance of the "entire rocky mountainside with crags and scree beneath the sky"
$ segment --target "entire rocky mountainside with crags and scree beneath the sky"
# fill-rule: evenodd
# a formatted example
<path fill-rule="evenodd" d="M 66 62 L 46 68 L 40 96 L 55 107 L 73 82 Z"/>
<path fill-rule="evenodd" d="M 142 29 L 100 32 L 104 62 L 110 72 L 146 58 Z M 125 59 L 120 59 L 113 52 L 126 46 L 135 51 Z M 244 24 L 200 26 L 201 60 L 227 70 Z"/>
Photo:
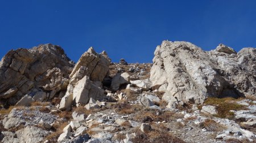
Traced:
<path fill-rule="evenodd" d="M 75 64 L 51 44 L 11 50 L 0 142 L 255 142 L 255 53 L 163 41 L 153 63 L 90 47 Z"/>

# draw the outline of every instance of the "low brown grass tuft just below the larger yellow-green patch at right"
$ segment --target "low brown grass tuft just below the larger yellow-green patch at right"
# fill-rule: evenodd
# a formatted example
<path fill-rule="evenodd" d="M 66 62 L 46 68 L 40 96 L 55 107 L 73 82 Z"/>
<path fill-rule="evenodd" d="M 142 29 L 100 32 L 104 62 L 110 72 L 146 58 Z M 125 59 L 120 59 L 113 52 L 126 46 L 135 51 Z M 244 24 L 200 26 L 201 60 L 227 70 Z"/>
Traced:
<path fill-rule="evenodd" d="M 210 132 L 222 132 L 226 129 L 225 125 L 217 123 L 212 119 L 206 119 L 203 123 L 200 124 L 200 127 L 205 128 Z"/>

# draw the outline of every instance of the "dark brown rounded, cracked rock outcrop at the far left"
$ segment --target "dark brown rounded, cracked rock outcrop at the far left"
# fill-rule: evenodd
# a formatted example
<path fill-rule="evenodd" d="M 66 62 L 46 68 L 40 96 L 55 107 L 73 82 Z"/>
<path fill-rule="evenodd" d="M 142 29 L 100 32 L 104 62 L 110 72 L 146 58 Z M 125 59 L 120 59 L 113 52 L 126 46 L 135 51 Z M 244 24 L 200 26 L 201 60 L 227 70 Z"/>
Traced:
<path fill-rule="evenodd" d="M 11 50 L 0 62 L 0 99 L 14 105 L 25 94 L 34 97 L 43 90 L 47 100 L 67 88 L 73 66 L 60 46 Z"/>

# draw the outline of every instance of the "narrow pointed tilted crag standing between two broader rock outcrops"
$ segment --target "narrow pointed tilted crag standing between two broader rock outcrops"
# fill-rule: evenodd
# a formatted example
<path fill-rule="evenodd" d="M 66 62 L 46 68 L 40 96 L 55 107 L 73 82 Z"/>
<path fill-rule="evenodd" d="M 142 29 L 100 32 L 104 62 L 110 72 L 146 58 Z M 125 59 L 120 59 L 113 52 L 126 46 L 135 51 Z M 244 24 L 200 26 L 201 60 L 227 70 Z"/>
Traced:
<path fill-rule="evenodd" d="M 102 80 L 109 73 L 110 59 L 103 51 L 97 54 L 92 47 L 82 54 L 79 62 L 69 75 L 70 81 L 67 92 L 61 99 L 60 109 L 68 109 L 72 104 L 85 105 L 90 98 L 104 98 Z"/>

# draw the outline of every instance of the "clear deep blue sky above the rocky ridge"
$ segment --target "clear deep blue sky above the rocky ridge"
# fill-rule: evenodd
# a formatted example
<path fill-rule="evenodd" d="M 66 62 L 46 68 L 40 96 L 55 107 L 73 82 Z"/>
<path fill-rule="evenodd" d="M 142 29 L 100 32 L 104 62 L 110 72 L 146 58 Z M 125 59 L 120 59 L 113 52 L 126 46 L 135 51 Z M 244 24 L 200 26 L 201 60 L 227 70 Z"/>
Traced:
<path fill-rule="evenodd" d="M 0 57 L 19 47 L 60 45 L 77 62 L 90 46 L 113 62 L 152 62 L 163 40 L 204 50 L 256 47 L 256 1 L 0 0 Z"/>

